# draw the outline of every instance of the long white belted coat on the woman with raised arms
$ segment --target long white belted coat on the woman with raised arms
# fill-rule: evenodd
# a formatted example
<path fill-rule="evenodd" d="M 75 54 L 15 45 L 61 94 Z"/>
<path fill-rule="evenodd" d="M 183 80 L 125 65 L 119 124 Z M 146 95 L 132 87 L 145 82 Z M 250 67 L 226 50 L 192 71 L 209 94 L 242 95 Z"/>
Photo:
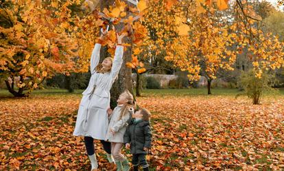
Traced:
<path fill-rule="evenodd" d="M 108 73 L 97 73 L 95 67 L 99 64 L 101 44 L 95 44 L 91 55 L 91 79 L 88 87 L 82 93 L 83 97 L 78 109 L 73 135 L 88 136 L 104 140 L 108 129 L 108 114 L 110 105 L 110 88 L 117 77 L 122 64 L 123 47 L 115 49 L 113 66 Z"/>

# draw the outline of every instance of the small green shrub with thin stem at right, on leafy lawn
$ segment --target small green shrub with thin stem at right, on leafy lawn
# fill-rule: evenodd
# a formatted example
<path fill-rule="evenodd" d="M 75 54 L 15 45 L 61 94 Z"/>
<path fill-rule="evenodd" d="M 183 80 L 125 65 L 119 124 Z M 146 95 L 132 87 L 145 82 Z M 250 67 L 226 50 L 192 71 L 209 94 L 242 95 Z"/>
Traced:
<path fill-rule="evenodd" d="M 274 75 L 269 73 L 263 73 L 261 78 L 256 77 L 255 74 L 255 70 L 241 73 L 237 84 L 239 88 L 244 90 L 244 93 L 237 94 L 237 96 L 246 95 L 252 98 L 254 105 L 257 105 L 260 102 L 263 92 L 274 90 L 272 86 L 274 86 L 276 79 Z"/>

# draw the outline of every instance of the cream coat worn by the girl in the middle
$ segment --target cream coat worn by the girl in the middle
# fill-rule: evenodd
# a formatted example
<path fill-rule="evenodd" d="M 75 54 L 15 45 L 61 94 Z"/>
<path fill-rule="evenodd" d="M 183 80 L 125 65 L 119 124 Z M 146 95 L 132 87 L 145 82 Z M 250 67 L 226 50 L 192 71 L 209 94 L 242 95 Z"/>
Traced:
<path fill-rule="evenodd" d="M 134 109 L 130 108 L 128 112 L 121 116 L 122 106 L 117 106 L 113 109 L 113 114 L 110 116 L 110 123 L 108 124 L 108 132 L 106 133 L 106 141 L 123 143 L 123 135 L 126 132 L 127 121 L 132 116 Z M 115 135 L 110 133 L 110 129 L 115 131 Z"/>

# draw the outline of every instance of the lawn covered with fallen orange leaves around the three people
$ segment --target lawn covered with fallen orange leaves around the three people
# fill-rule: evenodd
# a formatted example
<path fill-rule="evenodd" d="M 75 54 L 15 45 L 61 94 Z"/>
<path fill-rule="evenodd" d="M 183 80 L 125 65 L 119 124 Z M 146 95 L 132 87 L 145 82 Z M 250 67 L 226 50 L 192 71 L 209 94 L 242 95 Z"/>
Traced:
<path fill-rule="evenodd" d="M 82 137 L 72 135 L 80 97 L 36 93 L 0 98 L 0 170 L 90 170 Z M 150 167 L 283 170 L 283 101 L 283 95 L 251 105 L 247 98 L 224 94 L 148 93 L 138 102 L 152 112 Z M 102 146 L 97 143 L 96 149 L 104 168 Z"/>

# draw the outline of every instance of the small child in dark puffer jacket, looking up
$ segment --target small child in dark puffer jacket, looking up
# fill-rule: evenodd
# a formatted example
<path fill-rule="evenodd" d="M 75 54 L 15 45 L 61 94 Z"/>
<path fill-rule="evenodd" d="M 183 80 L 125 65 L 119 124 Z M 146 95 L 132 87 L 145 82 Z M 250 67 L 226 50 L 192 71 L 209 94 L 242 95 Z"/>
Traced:
<path fill-rule="evenodd" d="M 149 170 L 146 155 L 152 142 L 150 112 L 147 109 L 140 109 L 132 114 L 132 118 L 124 134 L 124 142 L 126 148 L 130 147 L 134 171 L 138 171 L 139 165 L 143 170 Z"/>

